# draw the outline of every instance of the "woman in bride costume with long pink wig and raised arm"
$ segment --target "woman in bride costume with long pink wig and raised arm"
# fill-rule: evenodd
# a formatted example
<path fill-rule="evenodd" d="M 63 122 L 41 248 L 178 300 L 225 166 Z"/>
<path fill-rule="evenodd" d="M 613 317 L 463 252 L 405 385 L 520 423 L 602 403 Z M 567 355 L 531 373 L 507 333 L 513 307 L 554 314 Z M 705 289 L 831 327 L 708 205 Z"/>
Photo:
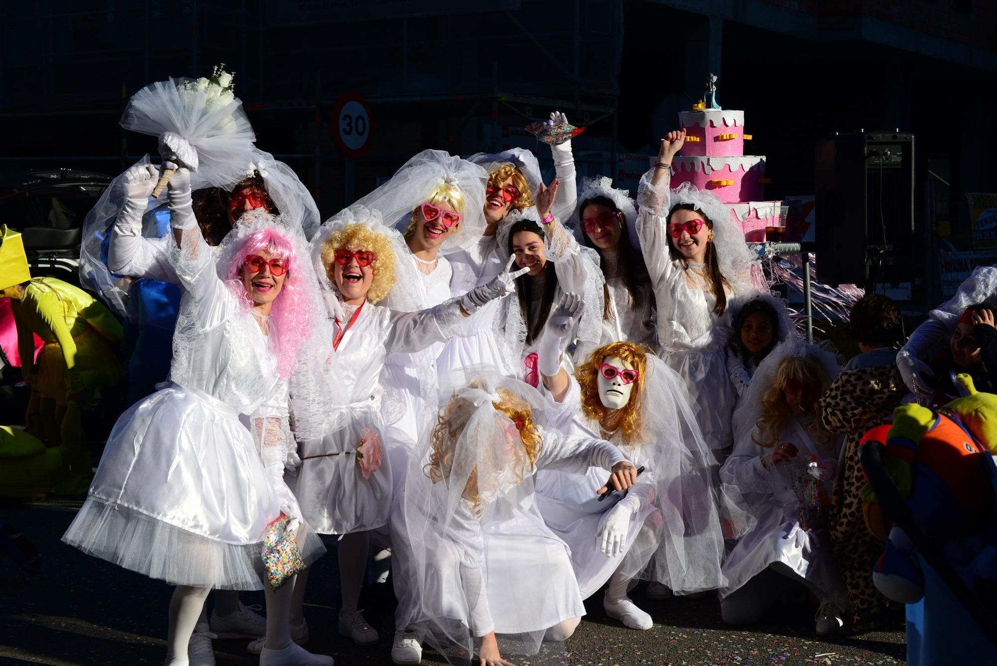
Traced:
<path fill-rule="evenodd" d="M 281 512 L 292 524 L 302 517 L 283 472 L 287 375 L 302 331 L 321 312 L 304 238 L 257 214 L 226 237 L 216 261 L 193 217 L 185 169 L 173 174 L 168 201 L 169 260 L 185 291 L 170 385 L 119 419 L 63 538 L 177 585 L 167 664 L 188 663 L 188 639 L 211 587 L 264 588 L 260 663 L 331 664 L 290 640 L 293 582 L 273 592 L 260 577 L 267 524 Z M 306 562 L 324 552 L 307 525 L 297 539 Z"/>

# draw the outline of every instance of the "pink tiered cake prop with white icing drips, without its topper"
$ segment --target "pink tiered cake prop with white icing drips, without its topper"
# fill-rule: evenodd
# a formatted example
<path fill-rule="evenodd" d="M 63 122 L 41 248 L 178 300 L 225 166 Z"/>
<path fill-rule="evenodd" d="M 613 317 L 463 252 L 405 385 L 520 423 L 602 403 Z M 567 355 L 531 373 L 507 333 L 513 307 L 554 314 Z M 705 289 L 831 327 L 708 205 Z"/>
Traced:
<path fill-rule="evenodd" d="M 715 193 L 731 206 L 731 220 L 748 242 L 783 240 L 795 207 L 787 201 L 766 201 L 765 156 L 746 156 L 745 113 L 703 109 L 679 113 L 686 141 L 672 160 L 672 186 L 691 182 Z"/>

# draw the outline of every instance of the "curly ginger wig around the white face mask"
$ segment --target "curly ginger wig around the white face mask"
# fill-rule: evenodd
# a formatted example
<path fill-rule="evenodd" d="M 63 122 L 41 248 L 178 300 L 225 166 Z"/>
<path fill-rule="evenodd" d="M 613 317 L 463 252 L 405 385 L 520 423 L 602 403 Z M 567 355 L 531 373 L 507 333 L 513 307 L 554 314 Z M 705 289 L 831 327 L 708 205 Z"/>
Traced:
<path fill-rule="evenodd" d="M 645 399 L 644 379 L 647 373 L 647 355 L 650 353 L 650 349 L 632 342 L 611 342 L 592 352 L 588 360 L 574 371 L 578 386 L 581 387 L 581 410 L 586 417 L 599 422 L 611 411 L 599 399 L 599 366 L 602 362 L 611 356 L 616 356 L 640 373 L 637 386 L 630 392 L 630 401 L 623 408 L 625 412 L 618 427 L 623 443 L 627 445 L 636 444 L 643 439 L 640 410 Z"/>

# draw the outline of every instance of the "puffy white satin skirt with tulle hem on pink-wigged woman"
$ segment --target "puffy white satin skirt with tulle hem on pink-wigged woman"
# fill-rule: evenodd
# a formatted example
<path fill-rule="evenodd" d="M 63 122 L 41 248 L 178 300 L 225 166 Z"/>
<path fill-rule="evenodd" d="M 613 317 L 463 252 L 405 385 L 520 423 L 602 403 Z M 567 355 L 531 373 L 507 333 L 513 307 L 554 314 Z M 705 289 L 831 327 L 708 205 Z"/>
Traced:
<path fill-rule="evenodd" d="M 115 424 L 63 540 L 174 585 L 262 589 L 263 533 L 279 514 L 239 415 L 171 385 Z M 306 528 L 298 545 L 306 563 L 325 551 Z"/>

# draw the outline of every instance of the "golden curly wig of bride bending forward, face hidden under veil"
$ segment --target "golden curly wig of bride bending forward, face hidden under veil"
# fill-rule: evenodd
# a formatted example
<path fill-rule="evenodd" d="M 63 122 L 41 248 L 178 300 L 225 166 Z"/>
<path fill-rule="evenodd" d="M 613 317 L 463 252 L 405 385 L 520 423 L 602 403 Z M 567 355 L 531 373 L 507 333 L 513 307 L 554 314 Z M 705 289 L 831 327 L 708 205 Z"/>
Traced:
<path fill-rule="evenodd" d="M 476 386 L 473 383 L 471 386 Z M 492 403 L 496 411 L 502 413 L 515 424 L 519 432 L 519 439 L 522 441 L 522 448 L 514 449 L 516 462 L 512 465 L 512 473 L 515 475 L 515 483 L 521 482 L 534 470 L 536 458 L 540 455 L 543 442 L 540 439 L 540 432 L 533 423 L 532 411 L 525 401 L 505 389 L 498 389 L 498 402 Z M 437 425 L 430 434 L 429 463 L 423 468 L 424 473 L 434 484 L 439 484 L 445 479 L 449 479 L 454 469 L 454 457 L 457 451 L 457 443 L 464 434 L 469 419 L 474 415 L 474 405 L 467 398 L 455 396 L 449 403 L 440 409 L 437 416 Z M 495 456 L 496 453 L 491 447 L 484 447 L 482 456 Z M 491 470 L 498 470 L 500 464 L 494 461 L 490 465 Z M 472 503 L 475 510 L 480 515 L 484 509 L 482 493 L 495 490 L 495 480 L 481 479 L 476 466 L 468 476 L 468 482 L 464 486 L 461 497 Z"/>

